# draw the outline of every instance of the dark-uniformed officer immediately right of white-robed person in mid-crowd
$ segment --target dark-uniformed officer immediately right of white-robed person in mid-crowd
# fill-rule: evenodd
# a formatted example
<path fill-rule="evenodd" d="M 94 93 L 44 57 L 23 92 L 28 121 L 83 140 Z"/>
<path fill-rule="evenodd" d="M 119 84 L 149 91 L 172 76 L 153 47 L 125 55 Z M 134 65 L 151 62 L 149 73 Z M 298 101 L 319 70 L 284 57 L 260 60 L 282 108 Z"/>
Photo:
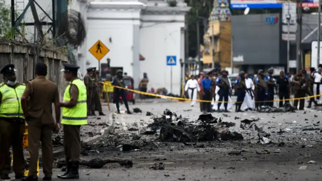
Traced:
<path fill-rule="evenodd" d="M 265 101 L 266 91 L 268 87 L 265 82 L 264 70 L 260 69 L 257 72 L 257 77 L 255 78 L 255 86 L 256 86 L 256 110 L 259 111 L 262 109 L 262 105 Z"/>

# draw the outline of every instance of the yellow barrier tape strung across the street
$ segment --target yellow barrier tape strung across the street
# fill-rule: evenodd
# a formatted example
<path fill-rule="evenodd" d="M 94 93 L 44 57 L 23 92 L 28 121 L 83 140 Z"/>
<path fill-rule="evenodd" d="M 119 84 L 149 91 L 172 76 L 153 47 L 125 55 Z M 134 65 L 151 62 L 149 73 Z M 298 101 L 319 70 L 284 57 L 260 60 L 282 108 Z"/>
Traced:
<path fill-rule="evenodd" d="M 107 84 L 105 82 L 101 82 L 102 84 Z M 146 95 L 146 96 L 152 96 L 152 97 L 157 97 L 157 98 L 168 98 L 168 99 L 173 99 L 173 100 L 178 100 L 178 101 L 196 101 L 196 102 L 201 102 L 201 103 L 228 103 L 227 101 L 206 101 L 206 100 L 192 100 L 192 99 L 187 99 L 187 98 L 177 98 L 177 97 L 171 97 L 171 96 L 164 96 L 164 95 L 157 95 L 157 94 L 152 94 L 152 93 L 145 93 L 117 85 L 112 85 L 109 84 L 109 86 L 113 86 L 116 88 L 120 88 L 126 91 L 131 91 L 133 93 L 141 94 L 141 95 Z M 308 97 L 303 97 L 303 98 L 290 98 L 290 99 L 283 99 L 283 100 L 273 100 L 273 101 L 256 101 L 255 103 L 270 103 L 270 102 L 280 102 L 280 101 L 294 101 L 294 100 L 301 100 L 301 99 L 309 99 L 309 98 L 315 98 L 322 96 L 322 94 L 319 95 L 314 95 L 314 96 L 308 96 Z M 235 103 L 243 103 L 243 102 L 235 102 Z"/>

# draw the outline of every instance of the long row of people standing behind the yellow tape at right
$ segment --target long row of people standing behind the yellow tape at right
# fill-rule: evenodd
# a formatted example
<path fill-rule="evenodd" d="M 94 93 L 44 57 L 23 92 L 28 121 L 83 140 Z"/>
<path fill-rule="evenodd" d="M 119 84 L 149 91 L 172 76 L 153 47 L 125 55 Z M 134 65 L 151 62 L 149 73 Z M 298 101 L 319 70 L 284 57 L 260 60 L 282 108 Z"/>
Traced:
<path fill-rule="evenodd" d="M 314 97 L 310 98 L 307 107 L 310 108 L 312 103 L 322 104 L 322 98 L 317 96 L 322 94 L 321 68 L 322 65 L 318 69 L 312 67 L 310 74 L 305 70 L 299 70 L 292 80 L 285 75 L 284 71 L 274 78 L 273 68 L 268 69 L 266 73 L 262 69 L 258 70 L 254 78 L 240 71 L 234 83 L 231 83 L 226 70 L 219 72 L 218 69 L 214 69 L 206 75 L 201 72 L 198 80 L 191 76 L 186 83 L 185 91 L 188 92 L 189 99 L 192 99 L 191 106 L 194 106 L 199 93 L 199 99 L 203 100 L 200 102 L 201 112 L 229 112 L 232 107 L 230 98 L 232 88 L 237 93 L 235 112 L 260 111 L 265 106 L 273 107 L 274 95 L 278 95 L 280 100 L 278 106 L 281 108 L 285 103 L 289 103 L 292 87 L 294 98 L 315 95 L 317 101 Z M 297 108 L 298 102 L 300 102 L 299 110 L 303 110 L 304 99 L 295 99 L 294 107 Z M 243 103 L 244 111 L 241 109 Z"/>

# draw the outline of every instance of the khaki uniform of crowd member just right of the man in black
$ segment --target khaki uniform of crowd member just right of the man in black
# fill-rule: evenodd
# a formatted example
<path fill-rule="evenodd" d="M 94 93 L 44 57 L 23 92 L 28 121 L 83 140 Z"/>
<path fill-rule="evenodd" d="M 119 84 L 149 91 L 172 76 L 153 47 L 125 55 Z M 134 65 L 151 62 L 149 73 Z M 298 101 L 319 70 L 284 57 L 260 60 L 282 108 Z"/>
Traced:
<path fill-rule="evenodd" d="M 294 83 L 294 98 L 303 98 L 305 97 L 305 94 L 306 94 L 306 90 L 307 90 L 307 86 L 305 88 L 302 88 L 302 85 L 305 82 L 305 78 L 302 76 L 302 75 L 295 75 L 294 76 L 294 81 L 300 81 L 300 85 L 297 84 L 297 83 Z M 298 104 L 298 101 L 300 102 L 300 106 L 299 106 L 299 110 L 303 110 L 304 109 L 304 99 L 301 99 L 301 100 L 294 100 L 294 107 L 297 108 L 297 104 Z"/>

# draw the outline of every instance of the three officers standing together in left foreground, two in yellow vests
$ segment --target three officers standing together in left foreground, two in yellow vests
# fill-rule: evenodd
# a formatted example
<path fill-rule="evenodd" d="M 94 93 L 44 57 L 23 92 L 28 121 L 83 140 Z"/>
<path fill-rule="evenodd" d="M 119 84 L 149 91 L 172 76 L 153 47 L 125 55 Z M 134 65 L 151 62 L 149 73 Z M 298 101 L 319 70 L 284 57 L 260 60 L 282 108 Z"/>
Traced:
<path fill-rule="evenodd" d="M 61 179 L 79 178 L 81 154 L 80 129 L 87 124 L 87 87 L 77 78 L 78 66 L 64 64 L 64 77 L 68 85 L 59 102 L 58 86 L 48 80 L 47 65 L 37 63 L 35 78 L 26 84 L 17 81 L 15 65 L 4 66 L 0 73 L 0 179 L 11 179 L 11 155 L 15 178 L 38 180 L 37 160 L 42 150 L 43 180 L 52 179 L 53 146 L 51 135 L 63 127 L 66 171 L 57 175 Z M 52 116 L 52 104 L 55 119 Z M 60 117 L 62 112 L 62 117 Z M 28 124 L 29 175 L 24 175 L 25 159 L 23 137 Z M 41 142 L 41 144 L 40 144 Z M 10 153 L 12 147 L 13 153 Z"/>

